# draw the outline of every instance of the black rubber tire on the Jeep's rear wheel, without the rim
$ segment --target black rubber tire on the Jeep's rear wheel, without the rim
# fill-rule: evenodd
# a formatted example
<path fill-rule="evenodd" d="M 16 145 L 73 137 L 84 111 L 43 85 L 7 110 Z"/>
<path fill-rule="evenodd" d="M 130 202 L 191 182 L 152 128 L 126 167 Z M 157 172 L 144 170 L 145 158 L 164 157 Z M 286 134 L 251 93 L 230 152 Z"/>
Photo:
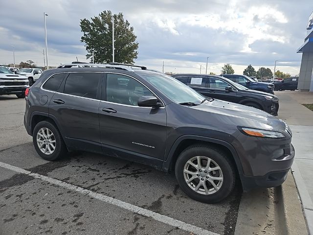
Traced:
<path fill-rule="evenodd" d="M 37 133 L 39 132 L 39 130 L 41 128 L 48 128 L 54 135 L 55 149 L 54 149 L 53 153 L 51 153 L 51 154 L 43 153 L 39 149 L 39 146 L 37 144 Z M 37 153 L 39 154 L 39 156 L 41 156 L 43 159 L 45 159 L 47 161 L 55 161 L 67 153 L 67 147 L 66 147 L 66 145 L 62 139 L 62 136 L 61 136 L 59 130 L 54 126 L 54 124 L 52 124 L 49 121 L 41 121 L 41 122 L 37 123 L 37 125 L 35 126 L 34 131 L 33 131 L 33 144 L 34 144 L 34 147 L 35 147 Z"/>

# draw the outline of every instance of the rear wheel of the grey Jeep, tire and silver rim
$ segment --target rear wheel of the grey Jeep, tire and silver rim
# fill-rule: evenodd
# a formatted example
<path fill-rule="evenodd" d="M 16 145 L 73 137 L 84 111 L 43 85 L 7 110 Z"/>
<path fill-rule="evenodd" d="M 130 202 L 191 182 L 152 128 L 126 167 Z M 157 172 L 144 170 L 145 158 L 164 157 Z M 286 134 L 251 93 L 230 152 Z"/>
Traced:
<path fill-rule="evenodd" d="M 35 126 L 33 144 L 37 153 L 47 161 L 57 160 L 67 152 L 59 130 L 48 121 L 41 121 Z"/>

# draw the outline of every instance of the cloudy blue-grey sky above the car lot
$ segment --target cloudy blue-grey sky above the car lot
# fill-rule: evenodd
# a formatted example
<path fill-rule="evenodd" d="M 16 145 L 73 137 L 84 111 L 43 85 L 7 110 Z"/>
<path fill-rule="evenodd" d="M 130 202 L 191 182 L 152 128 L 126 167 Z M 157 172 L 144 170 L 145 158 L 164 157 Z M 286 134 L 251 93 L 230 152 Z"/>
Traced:
<path fill-rule="evenodd" d="M 80 19 L 122 12 L 139 43 L 135 64 L 164 72 L 220 74 L 229 63 L 299 73 L 312 0 L 10 0 L 0 7 L 0 64 L 87 61 Z M 14 46 L 14 47 L 12 47 Z"/>

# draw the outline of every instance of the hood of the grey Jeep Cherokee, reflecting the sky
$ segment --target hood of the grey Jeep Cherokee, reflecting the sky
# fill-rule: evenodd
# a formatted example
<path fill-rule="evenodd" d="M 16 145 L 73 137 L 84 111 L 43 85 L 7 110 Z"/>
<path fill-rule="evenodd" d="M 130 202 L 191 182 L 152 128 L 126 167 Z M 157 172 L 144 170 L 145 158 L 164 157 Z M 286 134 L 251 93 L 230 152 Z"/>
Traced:
<path fill-rule="evenodd" d="M 215 99 L 191 108 L 218 115 L 218 119 L 227 124 L 263 130 L 285 130 L 285 123 L 282 120 L 265 111 L 241 104 Z"/>

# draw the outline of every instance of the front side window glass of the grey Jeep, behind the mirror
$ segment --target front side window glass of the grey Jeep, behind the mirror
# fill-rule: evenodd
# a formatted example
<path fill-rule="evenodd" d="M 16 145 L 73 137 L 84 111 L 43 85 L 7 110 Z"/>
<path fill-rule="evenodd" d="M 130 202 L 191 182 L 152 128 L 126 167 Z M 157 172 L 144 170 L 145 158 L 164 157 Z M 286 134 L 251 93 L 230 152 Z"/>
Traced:
<path fill-rule="evenodd" d="M 154 94 L 134 78 L 121 74 L 108 73 L 106 85 L 107 101 L 138 106 L 138 99 L 146 95 L 154 96 Z"/>

